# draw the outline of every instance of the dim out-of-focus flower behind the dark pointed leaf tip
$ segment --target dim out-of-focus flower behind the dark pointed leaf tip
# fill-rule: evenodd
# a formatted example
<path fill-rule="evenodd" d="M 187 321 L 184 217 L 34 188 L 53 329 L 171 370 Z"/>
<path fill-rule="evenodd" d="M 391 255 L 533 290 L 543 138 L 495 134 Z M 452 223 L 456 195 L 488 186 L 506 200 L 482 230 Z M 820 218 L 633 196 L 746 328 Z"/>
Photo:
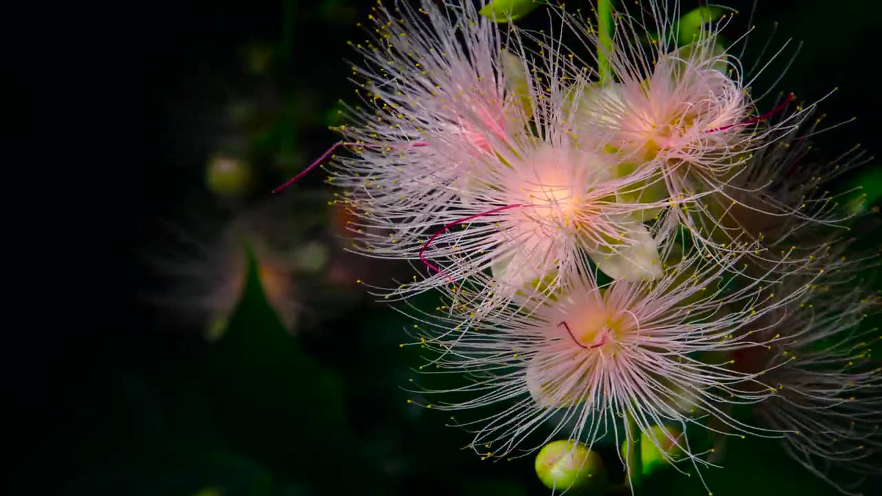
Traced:
<path fill-rule="evenodd" d="M 155 257 L 159 272 L 171 283 L 157 298 L 161 305 L 183 323 L 203 327 L 206 339 L 219 339 L 243 297 L 250 250 L 267 303 L 295 334 L 303 313 L 311 310 L 300 280 L 318 272 L 310 267 L 317 265 L 315 259 L 324 265 L 326 248 L 291 229 L 291 207 L 288 201 L 261 205 L 235 215 L 212 236 L 194 235 L 192 228 L 176 229 L 176 245 L 165 247 L 167 256 Z M 213 223 L 210 218 L 194 222 L 196 226 Z"/>

